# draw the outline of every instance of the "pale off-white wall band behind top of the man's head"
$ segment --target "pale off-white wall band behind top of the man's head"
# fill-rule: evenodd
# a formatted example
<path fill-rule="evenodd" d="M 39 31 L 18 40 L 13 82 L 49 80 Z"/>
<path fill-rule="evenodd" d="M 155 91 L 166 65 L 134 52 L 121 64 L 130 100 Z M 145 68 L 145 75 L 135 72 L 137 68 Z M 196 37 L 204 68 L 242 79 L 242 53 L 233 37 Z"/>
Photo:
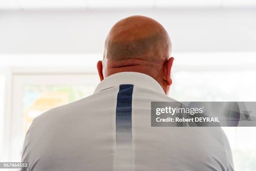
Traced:
<path fill-rule="evenodd" d="M 256 51 L 256 8 L 0 11 L 0 53 L 99 53 L 115 22 L 158 20 L 176 52 Z"/>

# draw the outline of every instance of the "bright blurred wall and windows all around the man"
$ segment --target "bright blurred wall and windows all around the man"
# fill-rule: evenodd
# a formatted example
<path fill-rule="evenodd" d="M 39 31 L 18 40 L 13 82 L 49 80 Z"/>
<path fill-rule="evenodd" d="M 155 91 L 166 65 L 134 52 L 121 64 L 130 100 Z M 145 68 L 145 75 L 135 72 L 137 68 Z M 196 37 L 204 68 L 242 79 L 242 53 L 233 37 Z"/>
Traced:
<path fill-rule="evenodd" d="M 0 161 L 20 161 L 42 112 L 87 97 L 105 37 L 146 15 L 173 44 L 170 97 L 256 101 L 255 0 L 0 0 Z M 256 128 L 223 128 L 236 171 L 256 171 Z"/>

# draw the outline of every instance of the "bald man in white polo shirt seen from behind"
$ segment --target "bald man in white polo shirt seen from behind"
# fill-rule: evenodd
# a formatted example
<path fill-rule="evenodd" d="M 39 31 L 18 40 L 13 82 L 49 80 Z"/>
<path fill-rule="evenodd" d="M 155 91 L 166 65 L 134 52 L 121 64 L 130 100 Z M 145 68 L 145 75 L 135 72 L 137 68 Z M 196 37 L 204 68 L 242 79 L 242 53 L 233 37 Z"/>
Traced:
<path fill-rule="evenodd" d="M 221 128 L 151 127 L 151 102 L 172 84 L 168 33 L 131 16 L 111 28 L 94 94 L 33 120 L 22 161 L 29 171 L 233 171 Z"/>

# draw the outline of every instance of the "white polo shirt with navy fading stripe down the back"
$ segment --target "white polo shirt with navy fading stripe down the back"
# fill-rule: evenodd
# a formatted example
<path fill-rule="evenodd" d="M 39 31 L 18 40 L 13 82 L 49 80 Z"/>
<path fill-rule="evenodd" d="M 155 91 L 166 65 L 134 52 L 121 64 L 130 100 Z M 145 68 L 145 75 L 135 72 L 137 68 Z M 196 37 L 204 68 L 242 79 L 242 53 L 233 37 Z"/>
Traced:
<path fill-rule="evenodd" d="M 29 171 L 233 171 L 219 127 L 151 127 L 151 102 L 175 101 L 152 77 L 122 72 L 94 94 L 33 120 Z"/>

